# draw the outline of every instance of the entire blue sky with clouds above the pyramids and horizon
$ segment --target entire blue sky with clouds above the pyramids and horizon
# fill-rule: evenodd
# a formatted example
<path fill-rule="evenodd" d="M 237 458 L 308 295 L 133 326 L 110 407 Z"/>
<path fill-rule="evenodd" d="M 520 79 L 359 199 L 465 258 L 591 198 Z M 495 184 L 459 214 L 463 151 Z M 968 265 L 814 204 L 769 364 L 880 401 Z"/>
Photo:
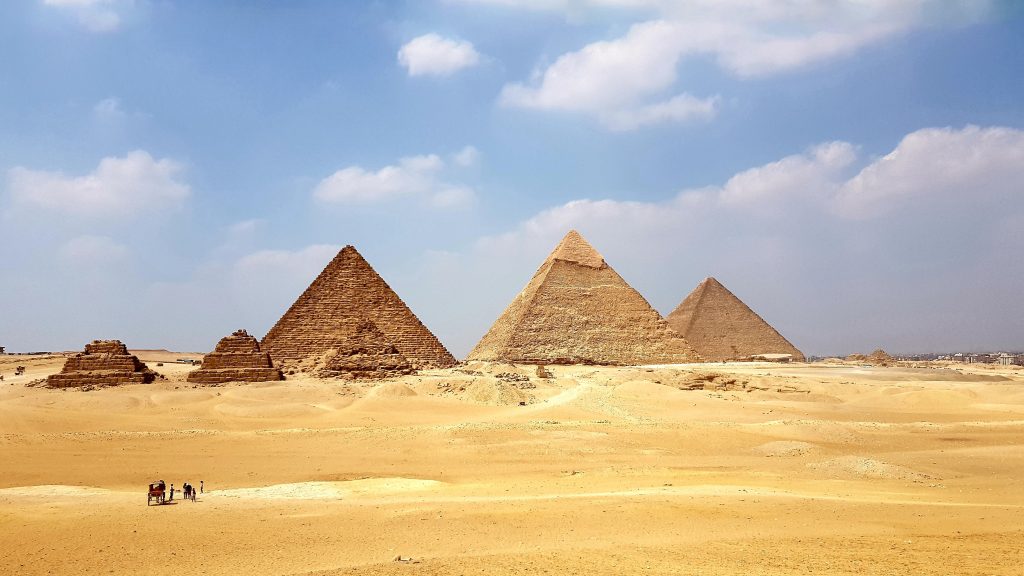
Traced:
<path fill-rule="evenodd" d="M 1024 348 L 1024 9 L 0 5 L 0 345 L 207 351 L 353 244 L 458 356 L 580 230 L 808 354 Z"/>

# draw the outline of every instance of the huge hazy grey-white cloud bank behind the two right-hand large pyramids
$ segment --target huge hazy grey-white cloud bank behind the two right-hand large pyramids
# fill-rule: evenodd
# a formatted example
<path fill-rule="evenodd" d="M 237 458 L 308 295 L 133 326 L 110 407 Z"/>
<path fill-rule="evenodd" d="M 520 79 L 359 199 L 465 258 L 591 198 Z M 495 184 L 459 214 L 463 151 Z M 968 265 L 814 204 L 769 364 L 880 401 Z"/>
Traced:
<path fill-rule="evenodd" d="M 578 229 L 663 312 L 717 276 L 811 354 L 1006 345 L 1024 304 L 956 304 L 1024 281 L 1006 265 L 1024 250 L 1022 155 L 1024 130 L 1006 127 L 926 128 L 882 157 L 825 142 L 659 202 L 553 206 L 445 274 L 514 283 L 511 269 L 521 287 Z"/>

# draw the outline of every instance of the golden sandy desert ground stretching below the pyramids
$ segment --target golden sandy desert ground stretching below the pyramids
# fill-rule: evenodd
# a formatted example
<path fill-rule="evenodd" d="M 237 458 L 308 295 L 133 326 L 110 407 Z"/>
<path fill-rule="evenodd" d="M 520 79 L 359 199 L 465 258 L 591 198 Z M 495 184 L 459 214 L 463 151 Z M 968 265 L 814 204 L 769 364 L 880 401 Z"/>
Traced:
<path fill-rule="evenodd" d="M 195 387 L 160 354 L 89 392 L 0 357 L 0 574 L 1024 574 L 1024 371 Z M 206 493 L 146 506 L 155 479 Z"/>

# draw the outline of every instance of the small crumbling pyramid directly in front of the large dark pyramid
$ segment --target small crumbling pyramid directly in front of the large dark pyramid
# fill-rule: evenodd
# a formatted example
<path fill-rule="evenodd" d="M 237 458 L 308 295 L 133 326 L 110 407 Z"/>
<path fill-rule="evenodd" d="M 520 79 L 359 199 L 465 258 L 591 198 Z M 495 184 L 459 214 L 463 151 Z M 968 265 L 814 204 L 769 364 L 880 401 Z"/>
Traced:
<path fill-rule="evenodd" d="M 344 321 L 313 373 L 323 378 L 376 379 L 413 373 L 413 366 L 369 319 Z"/>

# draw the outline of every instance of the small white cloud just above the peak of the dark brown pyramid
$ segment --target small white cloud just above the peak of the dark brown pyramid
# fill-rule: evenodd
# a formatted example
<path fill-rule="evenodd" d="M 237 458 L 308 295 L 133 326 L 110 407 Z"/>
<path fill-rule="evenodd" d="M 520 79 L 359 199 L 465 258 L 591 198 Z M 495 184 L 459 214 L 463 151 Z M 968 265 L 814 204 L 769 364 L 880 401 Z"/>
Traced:
<path fill-rule="evenodd" d="M 456 166 L 475 162 L 478 152 L 467 147 L 457 153 Z M 436 154 L 402 158 L 397 164 L 379 170 L 349 166 L 321 180 L 313 189 L 313 198 L 337 204 L 370 204 L 397 198 L 422 197 L 436 207 L 465 206 L 474 198 L 473 190 L 453 184 L 441 178 L 447 166 Z"/>

